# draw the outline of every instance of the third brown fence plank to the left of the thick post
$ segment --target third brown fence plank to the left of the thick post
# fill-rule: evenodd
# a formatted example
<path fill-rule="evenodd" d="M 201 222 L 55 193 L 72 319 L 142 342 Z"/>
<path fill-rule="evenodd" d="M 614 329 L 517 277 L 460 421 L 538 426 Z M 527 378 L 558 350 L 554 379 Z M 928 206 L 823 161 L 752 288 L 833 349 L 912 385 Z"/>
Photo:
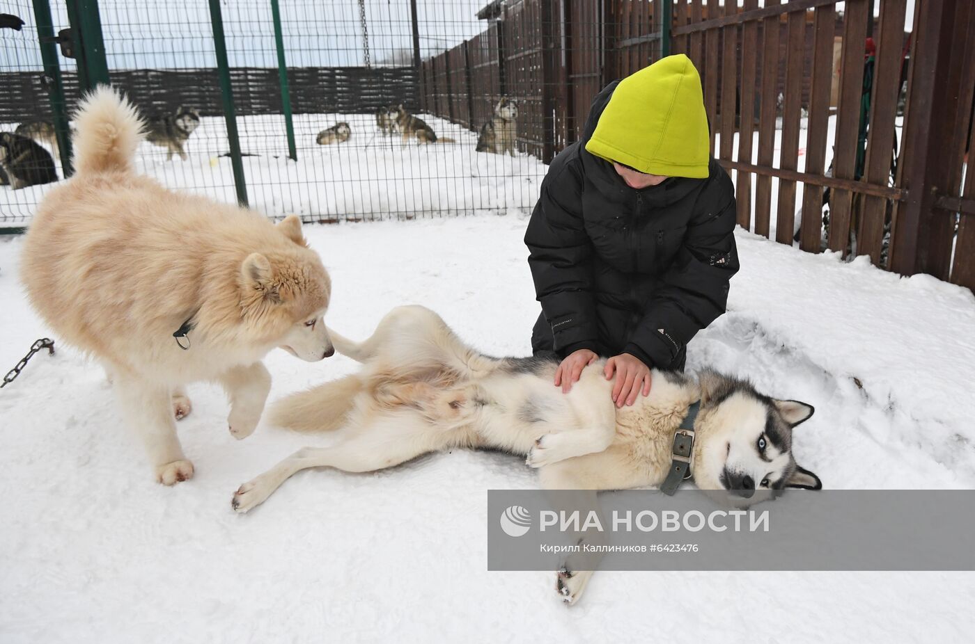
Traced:
<path fill-rule="evenodd" d="M 833 39 L 836 14 L 832 6 L 819 7 L 813 19 L 812 88 L 809 91 L 809 122 L 805 141 L 805 171 L 826 170 L 826 138 L 830 125 L 830 90 L 833 81 Z M 822 248 L 823 189 L 806 183 L 802 190 L 800 248 Z"/>

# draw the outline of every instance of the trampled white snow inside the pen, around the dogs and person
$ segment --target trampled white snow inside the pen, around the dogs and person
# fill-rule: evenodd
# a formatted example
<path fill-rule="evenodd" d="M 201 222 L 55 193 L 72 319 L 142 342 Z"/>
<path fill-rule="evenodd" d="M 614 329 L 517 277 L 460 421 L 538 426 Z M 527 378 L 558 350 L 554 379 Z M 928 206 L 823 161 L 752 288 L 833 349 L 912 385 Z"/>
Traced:
<path fill-rule="evenodd" d="M 419 302 L 495 355 L 525 355 L 537 304 L 519 215 L 307 229 L 363 337 Z M 829 488 L 975 486 L 975 298 L 930 277 L 739 231 L 729 312 L 689 368 L 751 377 L 816 415 L 796 453 Z M 0 366 L 49 333 L 0 241 Z M 275 352 L 272 398 L 349 373 Z M 376 474 L 295 475 L 247 515 L 237 486 L 303 444 L 225 430 L 214 387 L 180 422 L 193 480 L 152 481 L 102 371 L 67 347 L 0 392 L 0 641 L 970 641 L 972 573 L 611 573 L 579 605 L 552 574 L 488 573 L 487 489 L 535 485 L 519 459 L 455 451 Z M 839 538 L 839 535 L 838 535 Z"/>

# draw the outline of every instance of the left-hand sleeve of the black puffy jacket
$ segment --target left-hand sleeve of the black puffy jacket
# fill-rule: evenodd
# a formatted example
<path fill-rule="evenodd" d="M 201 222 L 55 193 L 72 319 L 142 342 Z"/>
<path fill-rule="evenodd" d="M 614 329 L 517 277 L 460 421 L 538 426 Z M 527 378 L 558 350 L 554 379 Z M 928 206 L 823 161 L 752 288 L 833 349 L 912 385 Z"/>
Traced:
<path fill-rule="evenodd" d="M 565 356 L 577 349 L 596 351 L 599 335 L 593 247 L 582 220 L 582 179 L 558 161 L 542 181 L 525 244 L 535 295 L 552 326 L 554 349 Z"/>

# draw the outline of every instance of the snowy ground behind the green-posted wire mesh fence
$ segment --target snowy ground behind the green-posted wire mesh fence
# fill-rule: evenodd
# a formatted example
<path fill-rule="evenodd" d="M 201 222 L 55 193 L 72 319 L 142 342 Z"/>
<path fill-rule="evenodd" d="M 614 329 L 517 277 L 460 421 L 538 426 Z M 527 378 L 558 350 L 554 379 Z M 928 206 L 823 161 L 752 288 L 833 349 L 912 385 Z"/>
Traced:
<path fill-rule="evenodd" d="M 296 162 L 288 158 L 284 116 L 239 118 L 241 151 L 253 155 L 243 159 L 250 206 L 269 216 L 299 214 L 306 221 L 504 214 L 534 206 L 548 170 L 538 159 L 475 152 L 477 133 L 421 116 L 438 136 L 454 142 L 404 144 L 401 136 L 380 133 L 369 114 L 295 115 Z M 352 130 L 348 141 L 315 142 L 316 134 L 342 121 Z M 15 127 L 0 125 L 0 131 Z M 137 171 L 171 188 L 237 201 L 230 158 L 221 156 L 229 151 L 223 118 L 201 119 L 185 150 L 186 161 L 167 161 L 164 148 L 142 143 Z M 24 225 L 54 185 L 0 186 L 0 221 Z"/>

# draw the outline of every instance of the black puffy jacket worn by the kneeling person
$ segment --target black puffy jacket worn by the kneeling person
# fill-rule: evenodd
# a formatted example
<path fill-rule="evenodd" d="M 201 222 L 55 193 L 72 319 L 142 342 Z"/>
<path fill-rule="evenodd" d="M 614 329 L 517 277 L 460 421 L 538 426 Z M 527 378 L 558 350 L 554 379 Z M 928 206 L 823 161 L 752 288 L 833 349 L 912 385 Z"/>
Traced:
<path fill-rule="evenodd" d="M 670 177 L 635 190 L 585 150 L 612 83 L 593 101 L 583 136 L 553 161 L 525 235 L 542 314 L 535 353 L 629 353 L 683 369 L 686 345 L 725 310 L 738 271 L 730 177 Z"/>

